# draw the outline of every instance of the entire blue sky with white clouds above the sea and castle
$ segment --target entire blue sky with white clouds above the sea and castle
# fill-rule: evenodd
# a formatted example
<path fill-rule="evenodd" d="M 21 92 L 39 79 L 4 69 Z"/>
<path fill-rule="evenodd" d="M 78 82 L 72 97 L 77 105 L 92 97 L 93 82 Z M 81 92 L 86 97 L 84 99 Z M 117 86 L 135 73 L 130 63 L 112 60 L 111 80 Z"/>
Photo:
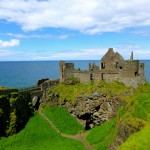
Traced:
<path fill-rule="evenodd" d="M 150 0 L 0 0 L 0 61 L 150 60 Z"/>

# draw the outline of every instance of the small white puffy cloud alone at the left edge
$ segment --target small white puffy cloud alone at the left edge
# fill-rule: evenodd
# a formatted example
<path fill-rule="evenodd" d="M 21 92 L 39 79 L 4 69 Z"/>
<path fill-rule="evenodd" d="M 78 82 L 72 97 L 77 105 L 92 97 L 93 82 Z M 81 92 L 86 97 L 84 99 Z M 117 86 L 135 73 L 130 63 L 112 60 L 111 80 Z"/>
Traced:
<path fill-rule="evenodd" d="M 10 41 L 0 40 L 0 48 L 4 47 L 14 47 L 20 44 L 20 41 L 17 39 L 11 39 Z"/>

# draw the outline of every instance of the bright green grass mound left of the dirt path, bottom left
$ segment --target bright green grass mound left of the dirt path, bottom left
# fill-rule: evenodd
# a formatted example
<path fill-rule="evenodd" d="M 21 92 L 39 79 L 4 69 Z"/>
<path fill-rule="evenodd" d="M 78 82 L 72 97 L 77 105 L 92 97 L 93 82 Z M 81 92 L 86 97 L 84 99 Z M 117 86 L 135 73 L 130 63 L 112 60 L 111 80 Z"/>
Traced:
<path fill-rule="evenodd" d="M 82 143 L 64 138 L 39 114 L 18 134 L 0 139 L 0 150 L 84 150 Z"/>

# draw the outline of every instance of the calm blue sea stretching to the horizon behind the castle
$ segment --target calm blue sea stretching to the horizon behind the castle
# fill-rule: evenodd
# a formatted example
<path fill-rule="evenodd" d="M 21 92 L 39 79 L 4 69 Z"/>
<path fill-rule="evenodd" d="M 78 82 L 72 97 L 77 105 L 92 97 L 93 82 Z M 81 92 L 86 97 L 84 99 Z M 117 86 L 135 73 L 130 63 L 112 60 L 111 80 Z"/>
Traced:
<path fill-rule="evenodd" d="M 99 60 L 71 60 L 75 68 L 87 70 L 89 63 L 100 64 Z M 150 82 L 150 60 L 140 60 L 145 64 L 145 76 Z M 7 61 L 0 62 L 0 86 L 8 88 L 28 88 L 35 86 L 39 79 L 59 78 L 59 61 Z"/>

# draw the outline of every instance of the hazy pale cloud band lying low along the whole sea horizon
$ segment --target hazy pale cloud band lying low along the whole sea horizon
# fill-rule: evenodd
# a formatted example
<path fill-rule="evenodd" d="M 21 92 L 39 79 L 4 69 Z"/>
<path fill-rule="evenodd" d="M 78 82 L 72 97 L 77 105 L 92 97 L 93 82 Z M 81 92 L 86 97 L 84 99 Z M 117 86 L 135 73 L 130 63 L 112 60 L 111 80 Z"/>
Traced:
<path fill-rule="evenodd" d="M 132 49 L 133 50 L 133 49 Z M 129 49 L 114 48 L 114 52 L 119 52 L 125 60 L 130 59 L 130 54 L 132 51 Z M 93 48 L 93 49 L 83 49 L 76 51 L 39 51 L 32 52 L 31 50 L 24 50 L 22 52 L 14 52 L 10 50 L 0 49 L 0 60 L 101 60 L 101 58 L 108 51 L 108 48 Z M 134 59 L 149 59 L 150 52 L 147 50 L 134 50 Z"/>

